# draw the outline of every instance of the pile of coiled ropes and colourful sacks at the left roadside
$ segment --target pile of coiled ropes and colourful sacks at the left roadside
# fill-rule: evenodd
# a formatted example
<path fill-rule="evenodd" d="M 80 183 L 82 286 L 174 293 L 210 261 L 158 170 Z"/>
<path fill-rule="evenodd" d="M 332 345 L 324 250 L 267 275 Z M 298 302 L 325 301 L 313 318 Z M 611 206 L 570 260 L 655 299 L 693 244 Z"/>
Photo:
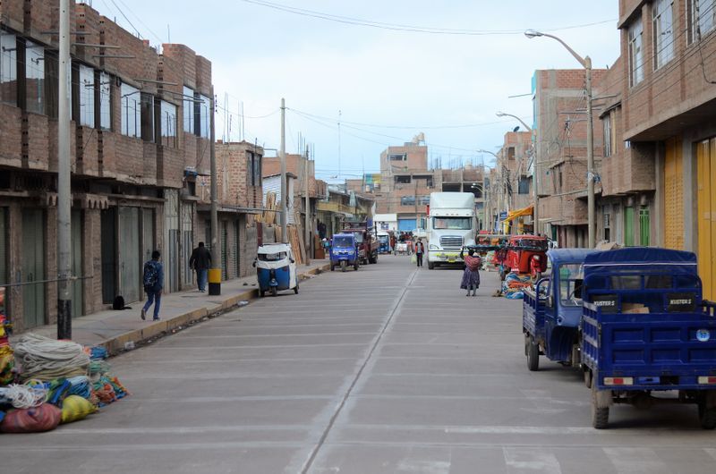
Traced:
<path fill-rule="evenodd" d="M 11 376 L 0 379 L 0 431 L 4 433 L 48 431 L 84 419 L 129 394 L 108 374 L 104 348 L 38 334 L 24 334 L 14 346 L 13 353 L 6 336 L 0 336 L 0 353 L 9 351 L 13 360 Z"/>

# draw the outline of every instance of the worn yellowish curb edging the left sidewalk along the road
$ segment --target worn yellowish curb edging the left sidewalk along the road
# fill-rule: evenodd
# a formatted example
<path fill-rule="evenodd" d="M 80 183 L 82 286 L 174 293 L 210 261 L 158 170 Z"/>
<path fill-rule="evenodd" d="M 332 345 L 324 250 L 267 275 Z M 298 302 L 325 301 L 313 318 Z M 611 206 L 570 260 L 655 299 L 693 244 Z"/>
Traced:
<path fill-rule="evenodd" d="M 323 265 L 321 267 L 311 268 L 306 272 L 298 274 L 300 280 L 307 280 L 310 278 L 309 275 L 319 275 L 330 269 L 330 264 Z M 251 301 L 259 298 L 259 290 L 252 289 L 239 294 L 234 294 L 226 300 L 223 300 L 221 305 L 214 309 L 198 308 L 193 309 L 188 313 L 184 313 L 179 316 L 171 317 L 170 319 L 163 319 L 156 323 L 152 323 L 149 326 L 141 327 L 140 329 L 134 329 L 124 334 L 119 334 L 115 337 L 111 337 L 105 340 L 103 343 L 99 343 L 99 346 L 107 349 L 107 353 L 110 356 L 115 356 L 121 352 L 124 352 L 125 343 L 143 343 L 149 339 L 156 337 L 166 336 L 173 334 L 175 330 L 180 327 L 189 326 L 205 320 L 210 317 L 217 317 L 230 309 L 238 307 L 240 301 Z"/>

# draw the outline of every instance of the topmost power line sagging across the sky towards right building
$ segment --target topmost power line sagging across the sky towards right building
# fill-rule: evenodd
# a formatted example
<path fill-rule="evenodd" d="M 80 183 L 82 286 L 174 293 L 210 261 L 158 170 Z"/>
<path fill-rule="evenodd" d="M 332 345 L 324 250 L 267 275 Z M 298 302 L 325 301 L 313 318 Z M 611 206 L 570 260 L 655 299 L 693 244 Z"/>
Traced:
<path fill-rule="evenodd" d="M 336 15 L 331 13 L 317 12 L 315 10 L 306 10 L 303 8 L 297 8 L 294 6 L 288 6 L 286 4 L 276 4 L 273 2 L 267 2 L 265 0 L 242 0 L 247 4 L 256 4 L 279 10 L 286 13 L 294 13 L 296 15 L 307 16 L 311 18 L 318 18 L 325 21 L 334 21 L 337 23 L 344 23 L 355 26 L 364 26 L 370 28 L 376 28 L 379 30 L 393 30 L 393 31 L 408 31 L 413 33 L 427 33 L 435 35 L 463 35 L 463 36 L 489 36 L 489 35 L 521 35 L 524 30 L 463 30 L 463 29 L 451 29 L 451 28 L 434 28 L 434 27 L 423 27 L 415 25 L 407 25 L 400 23 L 388 23 L 384 21 L 371 21 L 360 18 L 354 18 L 349 16 Z M 571 30 L 575 28 L 585 28 L 595 25 L 601 25 L 617 21 L 616 19 L 593 21 L 590 23 L 584 23 L 580 25 L 571 25 L 566 27 L 542 29 L 543 31 L 559 31 L 559 30 Z"/>

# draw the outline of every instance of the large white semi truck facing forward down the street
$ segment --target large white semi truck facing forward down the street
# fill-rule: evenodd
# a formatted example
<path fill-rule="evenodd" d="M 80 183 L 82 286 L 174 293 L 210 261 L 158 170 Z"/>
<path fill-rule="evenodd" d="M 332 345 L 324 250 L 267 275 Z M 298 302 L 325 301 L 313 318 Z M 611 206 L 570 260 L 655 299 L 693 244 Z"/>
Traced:
<path fill-rule="evenodd" d="M 428 268 L 462 262 L 460 250 L 475 244 L 477 216 L 472 192 L 431 192 Z"/>

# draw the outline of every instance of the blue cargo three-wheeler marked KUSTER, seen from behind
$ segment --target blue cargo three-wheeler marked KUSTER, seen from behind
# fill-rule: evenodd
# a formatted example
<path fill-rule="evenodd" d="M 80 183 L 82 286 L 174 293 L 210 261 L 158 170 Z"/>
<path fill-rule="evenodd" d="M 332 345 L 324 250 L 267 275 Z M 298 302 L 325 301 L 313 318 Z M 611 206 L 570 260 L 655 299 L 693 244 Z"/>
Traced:
<path fill-rule="evenodd" d="M 584 259 L 583 296 L 582 362 L 593 427 L 608 426 L 614 403 L 657 402 L 695 403 L 701 427 L 716 427 L 716 305 L 703 301 L 694 253 L 594 253 Z M 663 395 L 676 391 L 678 397 Z"/>

